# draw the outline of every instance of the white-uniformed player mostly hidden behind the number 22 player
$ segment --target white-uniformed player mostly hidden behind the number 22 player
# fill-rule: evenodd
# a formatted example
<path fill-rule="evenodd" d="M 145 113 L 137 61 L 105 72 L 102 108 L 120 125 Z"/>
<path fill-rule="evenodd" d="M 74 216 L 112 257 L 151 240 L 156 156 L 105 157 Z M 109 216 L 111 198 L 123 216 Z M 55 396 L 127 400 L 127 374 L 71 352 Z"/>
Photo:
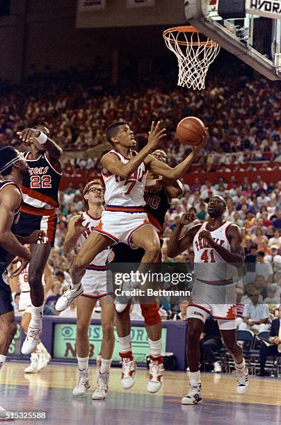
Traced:
<path fill-rule="evenodd" d="M 30 249 L 30 245 L 26 245 L 27 249 Z M 13 262 L 13 270 L 17 270 L 21 266 L 20 262 L 15 260 Z M 42 276 L 42 280 L 44 281 L 44 292 L 45 298 L 47 292 L 51 289 L 53 285 L 53 279 L 51 276 L 51 269 L 49 268 L 48 263 L 45 266 L 44 274 Z M 30 296 L 30 286 L 29 286 L 29 264 L 25 269 L 20 272 L 20 274 L 14 278 L 9 279 L 10 287 L 13 291 L 13 288 L 16 288 L 19 285 L 20 295 L 19 295 L 19 313 L 22 315 L 21 326 L 24 332 L 27 333 L 29 328 L 29 323 L 31 321 L 31 296 Z M 40 372 L 41 369 L 47 366 L 49 361 L 51 360 L 51 356 L 47 351 L 44 344 L 40 340 L 37 344 L 37 347 L 31 353 L 31 364 L 24 369 L 26 374 L 36 374 Z"/>

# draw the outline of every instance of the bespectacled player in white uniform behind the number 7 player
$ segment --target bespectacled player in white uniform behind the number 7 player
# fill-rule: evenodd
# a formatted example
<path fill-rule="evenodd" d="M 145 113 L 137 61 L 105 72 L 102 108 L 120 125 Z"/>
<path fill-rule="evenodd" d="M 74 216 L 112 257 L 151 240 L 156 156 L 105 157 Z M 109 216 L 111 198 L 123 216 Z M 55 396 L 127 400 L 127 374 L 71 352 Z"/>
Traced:
<path fill-rule="evenodd" d="M 90 181 L 83 190 L 83 201 L 86 211 L 82 215 L 72 217 L 65 237 L 65 253 L 72 251 L 77 243 L 83 246 L 91 231 L 99 226 L 104 201 L 104 188 L 98 179 Z M 105 249 L 95 257 L 82 279 L 83 294 L 77 299 L 77 335 L 76 349 L 78 360 L 78 383 L 72 392 L 75 396 L 85 394 L 90 387 L 88 378 L 89 362 L 89 326 L 93 308 L 99 300 L 102 307 L 102 347 L 101 367 L 97 376 L 97 388 L 92 399 L 106 398 L 109 386 L 109 371 L 114 349 L 114 315 L 112 293 L 106 290 L 106 260 L 109 249 Z"/>

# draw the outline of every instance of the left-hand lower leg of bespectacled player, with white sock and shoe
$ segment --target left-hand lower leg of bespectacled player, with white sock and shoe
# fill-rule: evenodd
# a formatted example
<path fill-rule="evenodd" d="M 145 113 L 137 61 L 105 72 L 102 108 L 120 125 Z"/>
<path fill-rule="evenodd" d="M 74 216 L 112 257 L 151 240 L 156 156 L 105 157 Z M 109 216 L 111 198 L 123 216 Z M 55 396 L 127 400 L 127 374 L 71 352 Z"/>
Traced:
<path fill-rule="evenodd" d="M 76 333 L 76 351 L 78 361 L 78 383 L 72 392 L 75 396 L 85 394 L 90 388 L 88 369 L 89 369 L 89 326 L 93 309 L 96 304 L 95 299 L 79 297 L 77 299 L 77 333 Z"/>

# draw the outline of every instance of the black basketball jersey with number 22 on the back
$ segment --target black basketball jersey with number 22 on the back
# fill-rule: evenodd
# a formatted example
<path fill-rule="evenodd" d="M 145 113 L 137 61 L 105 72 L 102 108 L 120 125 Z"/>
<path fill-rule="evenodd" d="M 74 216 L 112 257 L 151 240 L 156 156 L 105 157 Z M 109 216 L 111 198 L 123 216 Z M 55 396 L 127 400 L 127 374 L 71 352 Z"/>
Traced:
<path fill-rule="evenodd" d="M 22 181 L 22 212 L 45 215 L 44 210 L 58 207 L 61 172 L 51 165 L 47 152 L 36 159 L 29 159 L 29 156 L 30 152 L 24 155 L 29 165 L 29 176 L 25 176 Z"/>

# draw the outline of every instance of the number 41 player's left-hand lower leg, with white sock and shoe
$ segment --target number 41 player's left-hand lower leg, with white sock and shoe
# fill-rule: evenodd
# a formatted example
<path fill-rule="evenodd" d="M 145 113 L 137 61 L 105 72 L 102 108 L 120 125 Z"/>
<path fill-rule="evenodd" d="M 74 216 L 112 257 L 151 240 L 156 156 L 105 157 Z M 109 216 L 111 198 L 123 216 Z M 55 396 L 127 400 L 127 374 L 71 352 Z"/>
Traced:
<path fill-rule="evenodd" d="M 199 371 L 200 364 L 200 335 L 203 331 L 204 322 L 200 319 L 187 319 L 187 347 L 186 357 L 189 367 L 189 391 L 186 397 L 182 398 L 182 404 L 197 404 L 201 397 L 201 378 Z"/>

